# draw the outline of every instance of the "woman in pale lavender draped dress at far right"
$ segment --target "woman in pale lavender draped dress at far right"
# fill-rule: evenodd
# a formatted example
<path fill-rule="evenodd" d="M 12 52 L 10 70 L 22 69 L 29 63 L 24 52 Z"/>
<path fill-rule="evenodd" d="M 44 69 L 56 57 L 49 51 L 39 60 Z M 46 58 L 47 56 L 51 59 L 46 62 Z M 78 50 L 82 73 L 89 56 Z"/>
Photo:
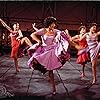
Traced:
<path fill-rule="evenodd" d="M 96 83 L 96 63 L 97 57 L 100 51 L 100 42 L 98 42 L 98 36 L 100 35 L 100 31 L 96 32 L 96 23 L 92 23 L 90 25 L 90 31 L 86 33 L 81 38 L 85 38 L 87 40 L 89 52 L 90 52 L 90 59 L 92 63 L 92 73 L 93 73 L 93 81 L 92 84 Z"/>

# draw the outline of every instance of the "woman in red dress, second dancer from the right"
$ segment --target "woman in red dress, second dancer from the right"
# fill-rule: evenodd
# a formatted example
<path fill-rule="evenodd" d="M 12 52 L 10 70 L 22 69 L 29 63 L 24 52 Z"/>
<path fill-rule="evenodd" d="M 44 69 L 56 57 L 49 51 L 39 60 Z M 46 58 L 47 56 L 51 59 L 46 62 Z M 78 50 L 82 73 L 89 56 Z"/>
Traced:
<path fill-rule="evenodd" d="M 80 26 L 79 28 L 79 35 L 75 35 L 72 37 L 72 41 L 75 41 L 80 45 L 82 48 L 78 49 L 78 58 L 76 63 L 82 65 L 82 73 L 81 77 L 85 76 L 85 64 L 89 61 L 89 55 L 88 55 L 88 45 L 86 39 L 81 39 L 81 37 L 86 34 L 86 27 Z"/>

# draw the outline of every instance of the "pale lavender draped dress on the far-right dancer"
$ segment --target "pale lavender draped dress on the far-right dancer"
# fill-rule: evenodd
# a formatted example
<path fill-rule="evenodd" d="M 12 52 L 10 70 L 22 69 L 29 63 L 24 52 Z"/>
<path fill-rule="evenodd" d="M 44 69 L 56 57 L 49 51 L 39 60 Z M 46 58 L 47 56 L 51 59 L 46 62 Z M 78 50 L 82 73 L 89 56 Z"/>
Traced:
<path fill-rule="evenodd" d="M 98 43 L 98 39 L 96 35 L 89 36 L 89 34 L 87 34 L 86 40 L 90 51 L 91 61 L 93 61 L 98 56 L 100 50 L 100 42 Z"/>

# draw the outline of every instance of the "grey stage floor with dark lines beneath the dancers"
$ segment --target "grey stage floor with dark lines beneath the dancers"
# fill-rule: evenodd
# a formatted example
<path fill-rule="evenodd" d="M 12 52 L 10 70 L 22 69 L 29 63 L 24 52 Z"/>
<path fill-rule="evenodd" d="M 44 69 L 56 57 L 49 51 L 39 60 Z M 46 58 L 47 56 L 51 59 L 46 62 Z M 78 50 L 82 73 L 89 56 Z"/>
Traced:
<path fill-rule="evenodd" d="M 60 70 L 55 70 L 55 96 L 52 95 L 48 72 L 42 75 L 37 70 L 32 71 L 27 65 L 28 59 L 28 56 L 19 58 L 20 72 L 16 74 L 10 55 L 0 56 L 0 99 L 100 100 L 100 59 L 97 63 L 97 83 L 93 86 L 90 62 L 85 67 L 85 78 L 80 78 L 81 66 L 76 64 L 75 57 L 71 57 Z"/>

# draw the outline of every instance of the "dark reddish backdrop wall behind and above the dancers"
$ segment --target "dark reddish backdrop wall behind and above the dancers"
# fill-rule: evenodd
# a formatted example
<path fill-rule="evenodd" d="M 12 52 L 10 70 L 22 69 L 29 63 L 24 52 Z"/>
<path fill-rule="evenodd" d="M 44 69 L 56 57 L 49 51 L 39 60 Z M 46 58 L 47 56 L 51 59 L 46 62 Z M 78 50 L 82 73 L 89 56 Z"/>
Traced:
<path fill-rule="evenodd" d="M 37 28 L 43 27 L 43 20 L 48 16 L 56 17 L 58 28 L 67 28 L 71 36 L 77 34 L 81 24 L 86 25 L 88 31 L 88 25 L 96 22 L 100 30 L 99 1 L 0 1 L 0 18 L 8 25 L 19 22 L 24 36 L 34 31 L 34 22 Z M 1 24 L 0 47 L 10 47 L 9 32 Z"/>

